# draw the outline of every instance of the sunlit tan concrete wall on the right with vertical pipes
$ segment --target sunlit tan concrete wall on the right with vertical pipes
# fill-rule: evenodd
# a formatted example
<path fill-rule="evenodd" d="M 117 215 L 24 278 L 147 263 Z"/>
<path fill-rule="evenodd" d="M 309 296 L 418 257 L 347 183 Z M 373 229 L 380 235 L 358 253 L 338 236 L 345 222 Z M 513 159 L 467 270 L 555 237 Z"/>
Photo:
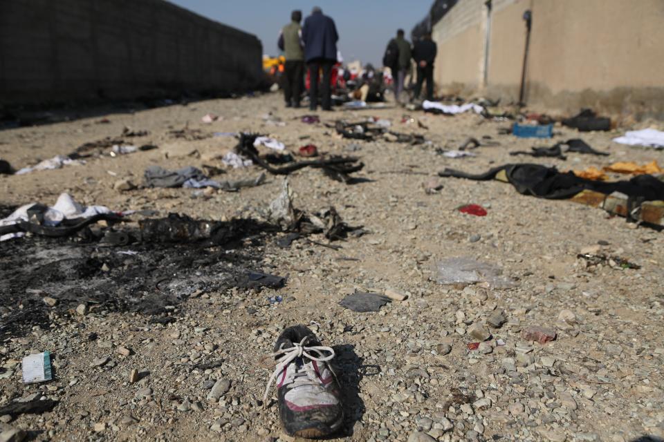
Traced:
<path fill-rule="evenodd" d="M 493 0 L 490 21 L 484 1 L 460 0 L 434 26 L 441 90 L 517 102 L 528 9 L 528 106 L 664 119 L 662 0 Z"/>

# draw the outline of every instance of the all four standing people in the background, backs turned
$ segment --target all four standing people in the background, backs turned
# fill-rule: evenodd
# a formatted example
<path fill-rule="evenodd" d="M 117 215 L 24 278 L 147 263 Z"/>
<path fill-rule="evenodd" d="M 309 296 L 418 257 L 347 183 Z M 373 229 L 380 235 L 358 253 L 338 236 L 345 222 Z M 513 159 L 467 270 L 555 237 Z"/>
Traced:
<path fill-rule="evenodd" d="M 305 67 L 309 77 L 309 108 L 315 111 L 319 103 L 324 111 L 332 110 L 331 75 L 338 60 L 337 41 L 339 35 L 333 19 L 323 15 L 321 8 L 315 7 L 306 17 L 304 25 L 302 11 L 291 13 L 291 23 L 279 33 L 277 46 L 284 51 L 284 99 L 286 107 L 300 107 Z M 403 29 L 391 39 L 383 57 L 383 64 L 389 67 L 394 81 L 394 95 L 398 102 L 403 94 L 404 82 L 410 71 L 411 59 L 416 63 L 417 81 L 414 98 L 418 98 L 424 81 L 427 82 L 427 99 L 434 95 L 434 60 L 436 44 L 431 34 L 419 39 L 413 46 L 404 37 Z M 320 78 L 322 75 L 322 79 Z M 321 79 L 320 83 L 319 80 Z M 366 81 L 367 86 L 371 81 Z M 362 91 L 362 96 L 367 95 Z"/>

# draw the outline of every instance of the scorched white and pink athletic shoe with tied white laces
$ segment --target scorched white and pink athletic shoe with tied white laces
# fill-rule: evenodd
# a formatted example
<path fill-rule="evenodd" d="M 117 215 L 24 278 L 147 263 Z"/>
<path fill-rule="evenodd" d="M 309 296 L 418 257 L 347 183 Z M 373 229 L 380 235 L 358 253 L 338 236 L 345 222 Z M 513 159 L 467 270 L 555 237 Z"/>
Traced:
<path fill-rule="evenodd" d="M 277 339 L 275 372 L 263 397 L 267 403 L 270 386 L 277 381 L 279 418 L 291 436 L 319 438 L 336 432 L 344 421 L 337 378 L 328 365 L 334 357 L 331 347 L 322 347 L 316 335 L 304 325 L 284 329 Z"/>

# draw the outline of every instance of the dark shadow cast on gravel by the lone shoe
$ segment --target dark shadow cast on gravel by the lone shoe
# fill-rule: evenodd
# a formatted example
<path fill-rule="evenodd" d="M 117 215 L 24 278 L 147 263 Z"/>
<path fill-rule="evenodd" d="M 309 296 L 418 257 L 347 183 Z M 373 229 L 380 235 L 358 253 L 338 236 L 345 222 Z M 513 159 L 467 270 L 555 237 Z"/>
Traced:
<path fill-rule="evenodd" d="M 365 403 L 360 398 L 360 379 L 380 373 L 378 365 L 363 365 L 362 358 L 350 344 L 335 345 L 336 357 L 333 359 L 335 373 L 341 385 L 342 401 L 346 419 L 344 427 L 333 437 L 352 436 L 356 423 L 365 414 Z"/>

